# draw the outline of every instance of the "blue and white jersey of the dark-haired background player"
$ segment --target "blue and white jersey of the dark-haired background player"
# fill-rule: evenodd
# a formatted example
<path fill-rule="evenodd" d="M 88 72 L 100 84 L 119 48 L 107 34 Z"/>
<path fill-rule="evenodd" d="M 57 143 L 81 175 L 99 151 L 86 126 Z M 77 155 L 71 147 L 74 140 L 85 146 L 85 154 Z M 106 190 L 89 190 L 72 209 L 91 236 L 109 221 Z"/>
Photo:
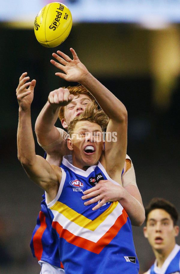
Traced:
<path fill-rule="evenodd" d="M 179 274 L 180 273 L 180 246 L 175 245 L 163 266 L 157 266 L 157 260 L 147 272 L 148 274 Z"/>

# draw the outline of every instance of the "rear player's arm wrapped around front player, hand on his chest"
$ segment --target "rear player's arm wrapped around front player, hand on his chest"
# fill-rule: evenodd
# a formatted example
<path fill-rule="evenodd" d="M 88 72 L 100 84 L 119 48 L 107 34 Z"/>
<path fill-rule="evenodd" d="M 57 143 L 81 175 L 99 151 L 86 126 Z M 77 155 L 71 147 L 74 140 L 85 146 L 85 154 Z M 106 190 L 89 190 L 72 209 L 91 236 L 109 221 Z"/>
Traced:
<path fill-rule="evenodd" d="M 82 199 L 85 200 L 85 205 L 90 205 L 100 201 L 98 205 L 93 208 L 93 210 L 100 208 L 107 202 L 119 201 L 123 205 L 123 208 L 125 208 L 131 220 L 131 224 L 134 226 L 141 226 L 145 219 L 145 211 L 139 189 L 137 188 L 133 164 L 131 159 L 128 158 L 126 159 L 124 165 L 125 173 L 127 172 L 128 175 L 124 177 L 122 182 L 123 188 L 132 197 L 126 195 L 126 199 L 124 199 L 123 203 L 122 193 L 125 191 L 122 189 L 122 186 L 116 185 L 109 180 L 101 180 L 95 187 L 83 192 L 84 196 L 82 196 Z M 94 197 L 96 198 L 93 199 Z M 92 199 L 86 201 L 86 199 L 90 198 Z"/>

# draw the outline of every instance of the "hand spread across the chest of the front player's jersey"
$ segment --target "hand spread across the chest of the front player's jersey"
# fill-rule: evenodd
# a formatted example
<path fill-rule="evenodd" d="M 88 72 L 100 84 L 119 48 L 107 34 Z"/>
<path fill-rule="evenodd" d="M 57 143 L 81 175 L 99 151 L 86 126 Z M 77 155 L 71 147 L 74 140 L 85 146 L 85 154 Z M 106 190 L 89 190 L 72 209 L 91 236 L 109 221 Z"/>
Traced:
<path fill-rule="evenodd" d="M 84 203 L 84 205 L 91 205 L 95 202 L 99 202 L 93 210 L 100 208 L 107 202 L 115 202 L 122 199 L 124 189 L 120 185 L 115 185 L 109 180 L 101 180 L 98 184 L 83 192 L 82 200 L 92 198 Z"/>

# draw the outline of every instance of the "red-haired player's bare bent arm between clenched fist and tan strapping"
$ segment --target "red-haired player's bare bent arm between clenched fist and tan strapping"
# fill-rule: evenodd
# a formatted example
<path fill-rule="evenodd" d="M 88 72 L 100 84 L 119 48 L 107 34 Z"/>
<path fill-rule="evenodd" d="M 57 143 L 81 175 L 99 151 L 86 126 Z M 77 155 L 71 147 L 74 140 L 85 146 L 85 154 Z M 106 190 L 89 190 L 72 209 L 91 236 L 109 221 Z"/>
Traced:
<path fill-rule="evenodd" d="M 38 142 L 46 146 L 59 138 L 59 132 L 55 127 L 58 119 L 58 105 L 51 105 L 48 101 L 41 110 L 35 123 L 35 132 Z"/>

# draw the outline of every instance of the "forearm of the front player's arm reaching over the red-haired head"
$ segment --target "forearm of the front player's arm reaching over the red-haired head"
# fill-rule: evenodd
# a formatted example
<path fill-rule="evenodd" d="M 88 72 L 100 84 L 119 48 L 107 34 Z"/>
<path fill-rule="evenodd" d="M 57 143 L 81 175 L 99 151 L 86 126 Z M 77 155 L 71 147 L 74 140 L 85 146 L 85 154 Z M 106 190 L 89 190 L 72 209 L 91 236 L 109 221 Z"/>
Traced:
<path fill-rule="evenodd" d="M 127 115 L 127 111 L 123 103 L 93 75 L 88 72 L 82 78 L 80 84 L 91 92 L 110 119 L 120 120 L 120 122 L 122 119 L 124 120 L 124 116 Z"/>

